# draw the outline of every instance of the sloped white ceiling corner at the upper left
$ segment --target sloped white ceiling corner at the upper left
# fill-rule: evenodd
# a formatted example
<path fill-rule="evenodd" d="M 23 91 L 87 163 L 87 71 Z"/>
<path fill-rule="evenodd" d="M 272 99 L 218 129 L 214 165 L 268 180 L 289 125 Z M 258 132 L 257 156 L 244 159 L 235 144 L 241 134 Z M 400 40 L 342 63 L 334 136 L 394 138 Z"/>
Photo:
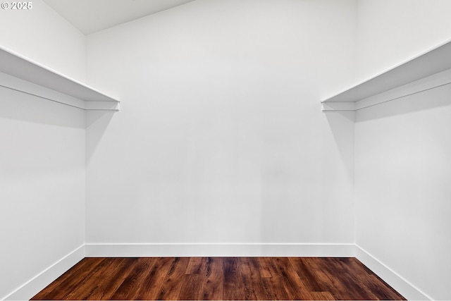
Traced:
<path fill-rule="evenodd" d="M 44 0 L 85 35 L 194 0 Z"/>

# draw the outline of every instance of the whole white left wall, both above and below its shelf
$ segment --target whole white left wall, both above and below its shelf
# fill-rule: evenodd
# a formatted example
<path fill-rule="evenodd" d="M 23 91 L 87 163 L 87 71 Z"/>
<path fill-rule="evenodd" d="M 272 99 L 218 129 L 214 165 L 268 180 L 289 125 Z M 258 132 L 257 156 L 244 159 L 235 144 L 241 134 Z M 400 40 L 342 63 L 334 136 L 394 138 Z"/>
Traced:
<path fill-rule="evenodd" d="M 84 37 L 33 4 L 0 11 L 1 46 L 85 78 Z M 84 243 L 85 123 L 80 109 L 0 87 L 0 299 Z"/>

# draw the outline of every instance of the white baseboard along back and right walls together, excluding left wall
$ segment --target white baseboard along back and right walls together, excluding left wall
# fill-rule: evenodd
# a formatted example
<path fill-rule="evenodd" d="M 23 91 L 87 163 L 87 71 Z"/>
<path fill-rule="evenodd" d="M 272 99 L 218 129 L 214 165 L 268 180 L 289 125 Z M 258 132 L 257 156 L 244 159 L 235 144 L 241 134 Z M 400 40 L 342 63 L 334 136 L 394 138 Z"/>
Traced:
<path fill-rule="evenodd" d="M 353 243 L 154 243 L 86 244 L 87 257 L 356 257 L 407 300 L 432 300 Z"/>

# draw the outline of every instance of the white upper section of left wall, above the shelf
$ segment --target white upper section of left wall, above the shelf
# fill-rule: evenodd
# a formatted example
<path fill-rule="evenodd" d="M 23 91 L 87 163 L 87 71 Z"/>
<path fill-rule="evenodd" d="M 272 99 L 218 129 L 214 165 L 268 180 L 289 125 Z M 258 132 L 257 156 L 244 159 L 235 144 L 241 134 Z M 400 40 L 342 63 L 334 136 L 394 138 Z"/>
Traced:
<path fill-rule="evenodd" d="M 0 45 L 80 82 L 86 81 L 85 35 L 42 0 L 0 9 Z M 20 2 L 22 4 L 23 2 Z"/>

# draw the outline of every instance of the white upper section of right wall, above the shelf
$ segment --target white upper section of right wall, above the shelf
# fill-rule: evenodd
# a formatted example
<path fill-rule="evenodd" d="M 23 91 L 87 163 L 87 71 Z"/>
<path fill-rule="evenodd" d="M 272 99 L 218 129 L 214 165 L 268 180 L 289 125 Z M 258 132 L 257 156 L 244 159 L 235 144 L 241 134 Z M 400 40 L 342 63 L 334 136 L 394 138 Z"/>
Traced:
<path fill-rule="evenodd" d="M 357 78 L 451 41 L 451 1 L 358 0 Z"/>

